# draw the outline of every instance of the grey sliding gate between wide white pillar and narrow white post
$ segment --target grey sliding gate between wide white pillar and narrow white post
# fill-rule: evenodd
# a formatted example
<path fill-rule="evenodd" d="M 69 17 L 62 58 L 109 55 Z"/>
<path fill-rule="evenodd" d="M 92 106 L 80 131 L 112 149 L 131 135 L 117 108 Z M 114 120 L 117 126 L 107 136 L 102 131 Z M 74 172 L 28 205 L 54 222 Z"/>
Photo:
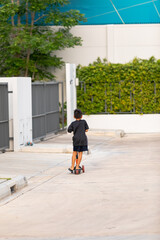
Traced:
<path fill-rule="evenodd" d="M 60 130 L 59 85 L 62 83 L 32 83 L 33 139 Z M 63 105 L 63 84 L 62 84 Z M 63 123 L 64 128 L 64 123 Z"/>

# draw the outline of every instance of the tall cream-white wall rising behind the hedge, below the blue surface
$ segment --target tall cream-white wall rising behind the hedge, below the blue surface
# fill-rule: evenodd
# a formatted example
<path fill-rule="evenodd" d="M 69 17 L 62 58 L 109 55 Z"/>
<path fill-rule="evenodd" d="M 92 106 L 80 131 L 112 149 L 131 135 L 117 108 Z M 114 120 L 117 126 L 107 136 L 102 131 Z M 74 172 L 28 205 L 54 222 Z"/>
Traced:
<path fill-rule="evenodd" d="M 126 63 L 135 57 L 160 58 L 160 24 L 82 25 L 71 32 L 82 38 L 82 46 L 56 52 L 68 63 L 86 66 L 98 57 L 113 63 Z M 64 80 L 65 69 L 56 75 Z"/>

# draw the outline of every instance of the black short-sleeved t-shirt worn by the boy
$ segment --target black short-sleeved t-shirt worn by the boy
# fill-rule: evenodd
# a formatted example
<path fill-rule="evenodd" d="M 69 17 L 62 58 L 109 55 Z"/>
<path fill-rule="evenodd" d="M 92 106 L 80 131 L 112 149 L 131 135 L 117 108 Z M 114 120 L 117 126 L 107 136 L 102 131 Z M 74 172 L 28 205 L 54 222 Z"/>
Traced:
<path fill-rule="evenodd" d="M 87 146 L 87 136 L 85 131 L 89 129 L 85 120 L 76 120 L 68 127 L 68 132 L 73 132 L 73 145 L 74 146 Z"/>

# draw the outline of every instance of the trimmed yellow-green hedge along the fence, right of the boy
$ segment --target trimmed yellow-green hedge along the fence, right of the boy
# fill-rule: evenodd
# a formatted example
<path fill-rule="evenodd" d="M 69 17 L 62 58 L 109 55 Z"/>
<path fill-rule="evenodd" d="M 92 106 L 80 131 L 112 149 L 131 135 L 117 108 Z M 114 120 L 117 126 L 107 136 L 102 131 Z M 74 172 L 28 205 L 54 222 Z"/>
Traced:
<path fill-rule="evenodd" d="M 160 60 L 126 64 L 97 59 L 77 67 L 77 105 L 85 114 L 160 113 Z"/>

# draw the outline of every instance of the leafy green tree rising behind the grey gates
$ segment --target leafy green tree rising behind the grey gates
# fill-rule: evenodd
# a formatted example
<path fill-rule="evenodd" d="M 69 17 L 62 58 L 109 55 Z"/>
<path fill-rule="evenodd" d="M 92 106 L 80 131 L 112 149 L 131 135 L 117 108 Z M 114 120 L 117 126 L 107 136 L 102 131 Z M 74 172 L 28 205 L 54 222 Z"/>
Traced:
<path fill-rule="evenodd" d="M 78 10 L 63 11 L 68 0 L 0 1 L 0 75 L 53 79 L 49 67 L 61 68 L 54 52 L 81 45 L 70 29 L 85 21 Z M 51 25 L 57 26 L 51 28 Z"/>

